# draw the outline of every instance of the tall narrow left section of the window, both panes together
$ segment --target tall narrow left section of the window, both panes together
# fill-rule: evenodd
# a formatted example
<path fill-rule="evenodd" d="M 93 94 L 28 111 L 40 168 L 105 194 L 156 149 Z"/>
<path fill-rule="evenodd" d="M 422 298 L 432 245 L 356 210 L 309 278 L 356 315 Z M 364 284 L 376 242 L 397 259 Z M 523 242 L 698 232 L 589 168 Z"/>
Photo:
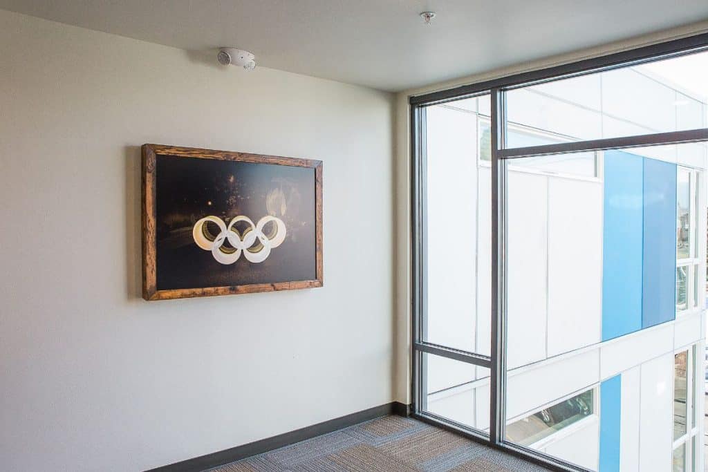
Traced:
<path fill-rule="evenodd" d="M 489 428 L 491 170 L 479 162 L 489 156 L 490 113 L 489 94 L 428 107 L 421 163 L 428 277 L 420 409 L 482 434 Z"/>

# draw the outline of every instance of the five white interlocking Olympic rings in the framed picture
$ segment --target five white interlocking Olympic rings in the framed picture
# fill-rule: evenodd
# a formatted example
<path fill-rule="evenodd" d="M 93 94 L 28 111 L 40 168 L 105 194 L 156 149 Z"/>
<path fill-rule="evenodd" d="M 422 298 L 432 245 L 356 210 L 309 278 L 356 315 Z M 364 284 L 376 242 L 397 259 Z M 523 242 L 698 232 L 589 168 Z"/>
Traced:
<path fill-rule="evenodd" d="M 239 221 L 246 221 L 249 224 L 244 233 L 234 227 Z M 263 233 L 263 227 L 273 221 L 273 231 L 269 234 Z M 219 226 L 219 234 L 213 235 L 208 229 L 208 222 Z M 251 263 L 262 263 L 270 250 L 277 248 L 285 241 L 285 223 L 280 218 L 263 217 L 258 220 L 258 224 L 253 224 L 249 217 L 239 215 L 229 222 L 227 226 L 219 217 L 204 217 L 194 224 L 192 236 L 197 246 L 205 251 L 212 251 L 212 255 L 221 264 L 233 264 L 239 260 L 241 253 L 246 260 Z M 224 241 L 229 240 L 231 248 L 224 248 Z M 256 244 L 256 239 L 258 239 Z"/>

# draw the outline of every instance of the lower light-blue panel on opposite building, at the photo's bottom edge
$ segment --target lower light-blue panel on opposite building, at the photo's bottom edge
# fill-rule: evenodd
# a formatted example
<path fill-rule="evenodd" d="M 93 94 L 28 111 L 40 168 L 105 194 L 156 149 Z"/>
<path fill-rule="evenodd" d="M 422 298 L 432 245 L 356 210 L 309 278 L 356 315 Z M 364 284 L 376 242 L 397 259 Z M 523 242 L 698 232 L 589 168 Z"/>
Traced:
<path fill-rule="evenodd" d="M 622 376 L 600 384 L 600 472 L 619 472 Z"/>

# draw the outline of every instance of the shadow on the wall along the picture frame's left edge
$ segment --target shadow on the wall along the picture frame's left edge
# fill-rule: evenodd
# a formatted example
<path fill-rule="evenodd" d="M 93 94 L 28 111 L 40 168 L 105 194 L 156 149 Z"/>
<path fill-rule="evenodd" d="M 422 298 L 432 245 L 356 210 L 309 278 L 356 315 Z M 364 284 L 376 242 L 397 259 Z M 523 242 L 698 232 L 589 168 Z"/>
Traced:
<path fill-rule="evenodd" d="M 125 146 L 125 273 L 127 298 L 142 299 L 140 146 Z"/>

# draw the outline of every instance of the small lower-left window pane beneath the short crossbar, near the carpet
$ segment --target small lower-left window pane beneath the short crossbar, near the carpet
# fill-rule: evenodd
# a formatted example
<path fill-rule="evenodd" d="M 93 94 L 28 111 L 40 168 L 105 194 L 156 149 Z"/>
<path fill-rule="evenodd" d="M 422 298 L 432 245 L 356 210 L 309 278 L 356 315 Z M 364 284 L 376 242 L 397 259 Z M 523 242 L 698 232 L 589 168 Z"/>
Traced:
<path fill-rule="evenodd" d="M 489 369 L 422 353 L 423 411 L 489 430 Z"/>

